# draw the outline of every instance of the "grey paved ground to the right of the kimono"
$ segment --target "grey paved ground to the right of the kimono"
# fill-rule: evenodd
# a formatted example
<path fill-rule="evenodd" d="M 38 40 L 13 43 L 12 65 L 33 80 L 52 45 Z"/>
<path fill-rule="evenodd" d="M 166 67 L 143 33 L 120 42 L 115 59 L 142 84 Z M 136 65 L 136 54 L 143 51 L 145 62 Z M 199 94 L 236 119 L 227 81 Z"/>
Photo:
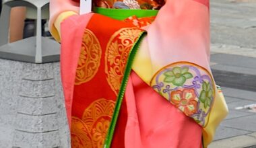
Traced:
<path fill-rule="evenodd" d="M 230 113 L 210 148 L 256 147 L 256 1 L 212 0 L 212 72 Z M 256 108 L 255 108 L 256 109 Z"/>

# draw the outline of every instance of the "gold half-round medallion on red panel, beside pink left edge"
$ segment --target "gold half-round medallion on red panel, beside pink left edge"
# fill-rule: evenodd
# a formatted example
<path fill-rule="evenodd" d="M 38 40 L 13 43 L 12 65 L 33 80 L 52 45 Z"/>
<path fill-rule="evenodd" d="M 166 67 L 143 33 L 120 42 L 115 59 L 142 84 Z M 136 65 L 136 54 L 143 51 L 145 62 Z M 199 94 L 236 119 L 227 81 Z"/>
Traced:
<path fill-rule="evenodd" d="M 102 49 L 93 32 L 86 29 L 82 39 L 82 47 L 75 72 L 75 85 L 86 83 L 96 75 L 100 66 Z"/>

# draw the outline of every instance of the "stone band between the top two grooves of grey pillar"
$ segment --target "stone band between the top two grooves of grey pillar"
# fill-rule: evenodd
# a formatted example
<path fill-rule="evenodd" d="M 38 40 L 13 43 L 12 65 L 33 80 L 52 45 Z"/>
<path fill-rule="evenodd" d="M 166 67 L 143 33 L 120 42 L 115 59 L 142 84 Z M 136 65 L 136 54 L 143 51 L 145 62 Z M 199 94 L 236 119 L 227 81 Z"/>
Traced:
<path fill-rule="evenodd" d="M 53 79 L 45 81 L 29 81 L 22 79 L 20 96 L 28 98 L 55 96 L 55 83 Z"/>

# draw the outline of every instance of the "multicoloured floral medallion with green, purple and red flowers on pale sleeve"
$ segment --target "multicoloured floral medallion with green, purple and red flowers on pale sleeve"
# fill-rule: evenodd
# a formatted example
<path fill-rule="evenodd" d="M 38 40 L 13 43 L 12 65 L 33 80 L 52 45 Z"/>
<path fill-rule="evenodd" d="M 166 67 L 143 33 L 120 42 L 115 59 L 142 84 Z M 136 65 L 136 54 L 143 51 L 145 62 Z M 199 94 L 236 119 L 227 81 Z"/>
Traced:
<path fill-rule="evenodd" d="M 158 71 L 150 85 L 184 114 L 206 126 L 215 98 L 212 75 L 189 62 L 172 63 Z"/>

